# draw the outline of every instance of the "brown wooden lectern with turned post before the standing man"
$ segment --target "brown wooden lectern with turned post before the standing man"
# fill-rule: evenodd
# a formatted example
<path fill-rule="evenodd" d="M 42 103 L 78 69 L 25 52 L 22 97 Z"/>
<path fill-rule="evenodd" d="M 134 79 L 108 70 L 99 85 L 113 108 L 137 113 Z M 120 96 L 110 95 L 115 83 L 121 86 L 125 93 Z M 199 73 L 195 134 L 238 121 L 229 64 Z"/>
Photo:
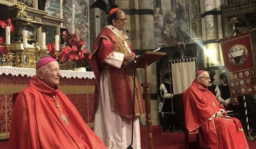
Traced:
<path fill-rule="evenodd" d="M 147 133 L 147 149 L 153 149 L 152 142 L 152 120 L 151 120 L 151 101 L 150 101 L 150 83 L 148 82 L 147 67 L 154 63 L 156 60 L 165 56 L 166 53 L 162 52 L 146 52 L 139 56 L 136 60 L 136 68 L 144 68 L 145 82 L 142 83 L 145 93 L 145 109 L 146 109 L 146 133 Z M 134 68 L 134 61 L 127 64 L 127 68 Z"/>

